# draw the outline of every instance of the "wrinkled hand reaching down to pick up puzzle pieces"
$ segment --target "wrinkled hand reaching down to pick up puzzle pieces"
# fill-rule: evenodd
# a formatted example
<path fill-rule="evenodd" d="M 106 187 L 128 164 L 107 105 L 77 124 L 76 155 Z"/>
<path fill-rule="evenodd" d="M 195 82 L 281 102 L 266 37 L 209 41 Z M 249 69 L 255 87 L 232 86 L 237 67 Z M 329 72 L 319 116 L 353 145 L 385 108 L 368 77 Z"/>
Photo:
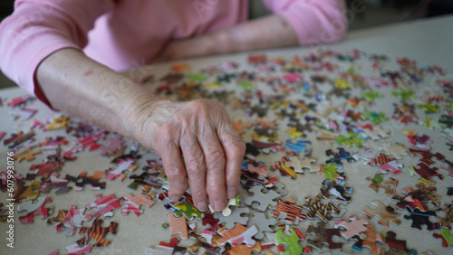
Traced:
<path fill-rule="evenodd" d="M 162 157 L 172 201 L 188 184 L 200 211 L 208 203 L 221 211 L 227 198 L 236 196 L 246 145 L 222 104 L 211 99 L 161 101 L 142 110 L 134 126 L 141 144 Z"/>

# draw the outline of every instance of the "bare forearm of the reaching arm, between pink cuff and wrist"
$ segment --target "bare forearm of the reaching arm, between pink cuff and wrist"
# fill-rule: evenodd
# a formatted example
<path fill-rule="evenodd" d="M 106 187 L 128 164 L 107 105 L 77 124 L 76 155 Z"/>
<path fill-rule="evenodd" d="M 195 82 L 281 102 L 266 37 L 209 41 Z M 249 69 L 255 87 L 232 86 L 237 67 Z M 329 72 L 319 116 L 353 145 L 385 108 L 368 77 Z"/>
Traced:
<path fill-rule="evenodd" d="M 82 52 L 63 49 L 39 65 L 36 80 L 54 109 L 133 138 L 132 112 L 159 101 L 148 90 Z"/>

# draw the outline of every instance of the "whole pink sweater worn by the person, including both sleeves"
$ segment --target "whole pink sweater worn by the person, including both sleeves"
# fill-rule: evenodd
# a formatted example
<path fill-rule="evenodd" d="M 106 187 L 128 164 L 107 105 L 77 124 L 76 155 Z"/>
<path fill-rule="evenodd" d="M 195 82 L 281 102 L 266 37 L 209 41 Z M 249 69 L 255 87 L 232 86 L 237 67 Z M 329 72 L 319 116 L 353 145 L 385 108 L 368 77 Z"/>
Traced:
<path fill-rule="evenodd" d="M 346 32 L 343 0 L 263 0 L 293 26 L 300 44 L 334 42 Z M 0 68 L 43 97 L 34 72 L 63 48 L 82 49 L 115 71 L 148 64 L 165 42 L 245 22 L 246 0 L 16 0 L 0 24 Z"/>

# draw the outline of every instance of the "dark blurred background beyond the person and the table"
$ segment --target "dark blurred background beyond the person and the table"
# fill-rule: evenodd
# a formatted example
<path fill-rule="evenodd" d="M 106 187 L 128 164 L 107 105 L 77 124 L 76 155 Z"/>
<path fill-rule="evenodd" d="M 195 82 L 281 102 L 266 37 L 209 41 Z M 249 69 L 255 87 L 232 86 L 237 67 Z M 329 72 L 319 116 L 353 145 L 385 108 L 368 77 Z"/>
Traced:
<path fill-rule="evenodd" d="M 453 14 L 453 0 L 346 0 L 349 31 L 367 29 L 384 24 L 410 22 L 420 18 Z M 0 1 L 0 20 L 13 13 L 14 0 Z M 261 0 L 250 0 L 250 18 L 258 18 L 268 11 Z M 0 56 L 1 57 L 1 56 Z M 15 86 L 0 71 L 0 88 Z"/>

